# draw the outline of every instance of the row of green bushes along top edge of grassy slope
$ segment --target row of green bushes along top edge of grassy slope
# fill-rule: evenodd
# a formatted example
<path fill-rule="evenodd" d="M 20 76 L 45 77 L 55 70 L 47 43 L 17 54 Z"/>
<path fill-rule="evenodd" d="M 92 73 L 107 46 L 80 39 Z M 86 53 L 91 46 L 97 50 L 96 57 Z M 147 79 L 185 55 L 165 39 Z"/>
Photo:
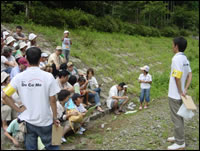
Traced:
<path fill-rule="evenodd" d="M 14 22 L 17 24 L 27 22 L 24 12 L 15 15 L 13 4 L 1 4 L 2 21 Z M 191 33 L 187 30 L 177 27 L 164 27 L 158 30 L 154 27 L 144 25 L 131 24 L 122 22 L 120 19 L 115 19 L 111 16 L 96 17 L 77 9 L 50 9 L 45 6 L 34 6 L 30 9 L 30 21 L 36 24 L 45 26 L 54 26 L 59 28 L 85 29 L 101 32 L 121 32 L 128 35 L 141 35 L 151 37 L 176 37 L 189 36 Z"/>

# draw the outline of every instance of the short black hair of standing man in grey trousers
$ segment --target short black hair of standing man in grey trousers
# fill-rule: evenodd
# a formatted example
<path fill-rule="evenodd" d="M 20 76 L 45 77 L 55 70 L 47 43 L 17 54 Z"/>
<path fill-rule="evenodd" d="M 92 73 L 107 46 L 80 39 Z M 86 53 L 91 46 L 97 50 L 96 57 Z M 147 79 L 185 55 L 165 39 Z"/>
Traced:
<path fill-rule="evenodd" d="M 187 40 L 183 37 L 176 37 L 173 39 L 174 45 L 178 46 L 179 52 L 184 52 L 187 47 Z"/>

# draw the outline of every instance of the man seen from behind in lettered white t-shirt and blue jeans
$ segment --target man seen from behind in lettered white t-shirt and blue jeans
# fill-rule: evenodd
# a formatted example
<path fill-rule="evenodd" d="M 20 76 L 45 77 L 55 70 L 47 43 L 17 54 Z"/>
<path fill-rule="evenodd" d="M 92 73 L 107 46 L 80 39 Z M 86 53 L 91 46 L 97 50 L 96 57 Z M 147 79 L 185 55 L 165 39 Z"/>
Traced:
<path fill-rule="evenodd" d="M 37 149 L 37 138 L 41 138 L 46 149 L 59 149 L 51 145 L 52 123 L 59 125 L 56 110 L 55 95 L 60 88 L 52 74 L 42 71 L 39 66 L 41 50 L 31 47 L 26 52 L 30 67 L 26 71 L 17 74 L 11 83 L 3 89 L 6 103 L 21 112 L 18 118 L 25 121 L 27 133 L 25 133 L 25 146 L 27 150 Z M 18 91 L 23 107 L 19 108 L 10 97 Z"/>

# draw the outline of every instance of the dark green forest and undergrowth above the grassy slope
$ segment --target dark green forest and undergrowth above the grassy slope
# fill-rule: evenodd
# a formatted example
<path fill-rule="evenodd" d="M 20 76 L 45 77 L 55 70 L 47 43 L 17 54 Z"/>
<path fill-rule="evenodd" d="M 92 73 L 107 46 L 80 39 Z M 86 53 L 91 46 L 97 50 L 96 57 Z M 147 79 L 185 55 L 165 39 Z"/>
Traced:
<path fill-rule="evenodd" d="M 199 1 L 2 1 L 1 22 L 142 36 L 199 33 Z"/>

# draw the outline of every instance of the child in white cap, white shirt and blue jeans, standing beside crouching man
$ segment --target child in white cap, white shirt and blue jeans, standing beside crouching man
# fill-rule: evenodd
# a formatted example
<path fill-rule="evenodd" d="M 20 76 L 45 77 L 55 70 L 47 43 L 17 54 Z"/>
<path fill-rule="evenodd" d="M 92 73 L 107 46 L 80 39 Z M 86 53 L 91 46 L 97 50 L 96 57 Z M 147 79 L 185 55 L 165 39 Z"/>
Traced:
<path fill-rule="evenodd" d="M 139 110 L 142 110 L 142 104 L 144 101 L 145 96 L 145 105 L 144 108 L 146 109 L 148 106 L 148 103 L 150 101 L 150 88 L 152 83 L 151 75 L 149 74 L 149 66 L 144 66 L 140 68 L 142 71 L 142 74 L 140 74 L 138 80 L 140 83 L 141 88 L 141 94 L 140 94 L 140 107 Z"/>

